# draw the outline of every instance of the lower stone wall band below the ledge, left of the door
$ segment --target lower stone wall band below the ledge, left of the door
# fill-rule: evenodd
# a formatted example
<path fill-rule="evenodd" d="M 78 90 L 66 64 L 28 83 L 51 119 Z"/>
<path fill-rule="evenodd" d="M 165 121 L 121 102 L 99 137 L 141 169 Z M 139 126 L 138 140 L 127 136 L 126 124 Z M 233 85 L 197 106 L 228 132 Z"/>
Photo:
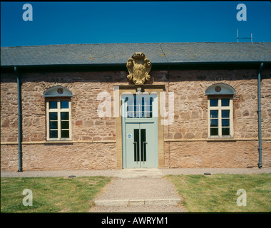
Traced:
<path fill-rule="evenodd" d="M 114 143 L 23 145 L 23 170 L 116 169 Z M 1 146 L 1 169 L 18 170 L 18 145 Z"/>

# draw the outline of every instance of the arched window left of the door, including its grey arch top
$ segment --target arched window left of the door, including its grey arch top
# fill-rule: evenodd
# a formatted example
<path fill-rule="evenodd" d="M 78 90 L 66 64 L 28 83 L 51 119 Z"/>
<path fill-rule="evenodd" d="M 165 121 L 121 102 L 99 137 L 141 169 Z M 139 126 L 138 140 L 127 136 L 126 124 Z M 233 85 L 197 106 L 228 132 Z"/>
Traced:
<path fill-rule="evenodd" d="M 54 86 L 44 92 L 46 98 L 47 140 L 71 140 L 71 93 Z"/>

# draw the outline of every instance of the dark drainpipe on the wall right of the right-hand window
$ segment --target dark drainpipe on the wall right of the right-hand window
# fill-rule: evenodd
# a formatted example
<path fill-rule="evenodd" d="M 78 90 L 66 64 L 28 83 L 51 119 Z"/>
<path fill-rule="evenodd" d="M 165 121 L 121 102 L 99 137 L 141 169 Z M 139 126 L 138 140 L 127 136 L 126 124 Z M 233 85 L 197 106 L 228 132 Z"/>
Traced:
<path fill-rule="evenodd" d="M 260 64 L 260 69 L 258 71 L 258 137 L 259 137 L 259 163 L 257 164 L 259 169 L 262 167 L 262 120 L 261 120 L 261 93 L 260 93 L 260 73 L 262 71 L 263 63 Z"/>

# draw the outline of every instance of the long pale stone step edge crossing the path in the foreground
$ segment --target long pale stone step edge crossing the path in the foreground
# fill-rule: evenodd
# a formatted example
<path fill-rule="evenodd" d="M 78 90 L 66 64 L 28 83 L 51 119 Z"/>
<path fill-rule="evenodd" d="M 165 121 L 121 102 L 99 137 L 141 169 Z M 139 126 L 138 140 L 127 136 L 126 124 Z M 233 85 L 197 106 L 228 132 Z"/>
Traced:
<path fill-rule="evenodd" d="M 96 206 L 178 205 L 181 199 L 103 199 L 95 200 Z"/>

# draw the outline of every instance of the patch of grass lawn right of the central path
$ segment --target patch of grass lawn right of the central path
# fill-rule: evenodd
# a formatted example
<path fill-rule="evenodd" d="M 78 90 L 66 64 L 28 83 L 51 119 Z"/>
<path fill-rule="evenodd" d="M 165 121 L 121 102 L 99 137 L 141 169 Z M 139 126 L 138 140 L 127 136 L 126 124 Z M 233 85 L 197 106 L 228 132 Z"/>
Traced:
<path fill-rule="evenodd" d="M 271 174 L 168 175 L 188 212 L 271 212 Z M 237 206 L 237 190 L 247 195 Z M 243 196 L 243 195 L 242 195 Z"/>

